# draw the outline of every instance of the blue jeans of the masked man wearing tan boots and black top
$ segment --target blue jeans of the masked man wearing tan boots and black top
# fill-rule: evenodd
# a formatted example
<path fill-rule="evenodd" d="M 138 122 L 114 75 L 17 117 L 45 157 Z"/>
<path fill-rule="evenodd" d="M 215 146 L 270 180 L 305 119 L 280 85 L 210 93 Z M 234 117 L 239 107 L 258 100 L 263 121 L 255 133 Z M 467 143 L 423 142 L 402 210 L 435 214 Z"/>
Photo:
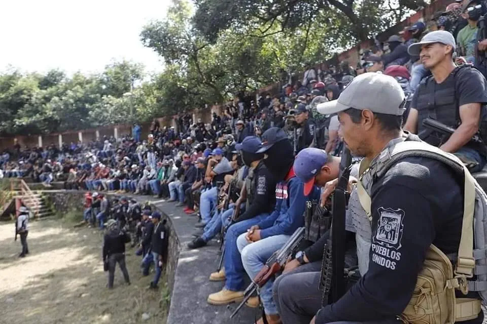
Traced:
<path fill-rule="evenodd" d="M 240 234 L 247 232 L 252 225 L 257 225 L 263 219 L 268 217 L 268 214 L 257 215 L 254 218 L 246 219 L 233 224 L 225 234 L 225 288 L 231 291 L 240 291 L 243 289 L 245 283 L 245 269 L 243 268 L 242 258 L 237 248 L 237 238 Z"/>

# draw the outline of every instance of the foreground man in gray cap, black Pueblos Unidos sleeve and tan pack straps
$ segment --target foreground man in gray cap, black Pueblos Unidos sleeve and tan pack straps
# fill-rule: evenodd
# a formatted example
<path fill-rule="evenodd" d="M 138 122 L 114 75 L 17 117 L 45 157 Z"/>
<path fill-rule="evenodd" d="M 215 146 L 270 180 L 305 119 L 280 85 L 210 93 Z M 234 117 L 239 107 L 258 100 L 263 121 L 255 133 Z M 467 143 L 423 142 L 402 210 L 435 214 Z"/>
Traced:
<path fill-rule="evenodd" d="M 394 78 L 364 73 L 319 107 L 338 113 L 347 148 L 364 156 L 357 191 L 371 235 L 357 239 L 359 264 L 368 259 L 363 276 L 346 291 L 332 264 L 331 298 L 311 324 L 482 322 L 485 290 L 471 280 L 481 272 L 473 245 L 485 242 L 473 240 L 472 225 L 477 234 L 485 193 L 453 154 L 402 131 L 404 104 Z"/>

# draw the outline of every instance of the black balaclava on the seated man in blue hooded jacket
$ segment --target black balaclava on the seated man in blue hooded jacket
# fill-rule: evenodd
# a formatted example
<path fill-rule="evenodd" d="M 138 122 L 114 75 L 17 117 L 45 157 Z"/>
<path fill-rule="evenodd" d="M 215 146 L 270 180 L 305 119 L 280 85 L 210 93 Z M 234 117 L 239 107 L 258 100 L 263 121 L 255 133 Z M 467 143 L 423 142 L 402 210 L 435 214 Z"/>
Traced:
<path fill-rule="evenodd" d="M 264 164 L 276 181 L 283 181 L 294 163 L 293 146 L 287 139 L 281 140 L 266 152 Z"/>

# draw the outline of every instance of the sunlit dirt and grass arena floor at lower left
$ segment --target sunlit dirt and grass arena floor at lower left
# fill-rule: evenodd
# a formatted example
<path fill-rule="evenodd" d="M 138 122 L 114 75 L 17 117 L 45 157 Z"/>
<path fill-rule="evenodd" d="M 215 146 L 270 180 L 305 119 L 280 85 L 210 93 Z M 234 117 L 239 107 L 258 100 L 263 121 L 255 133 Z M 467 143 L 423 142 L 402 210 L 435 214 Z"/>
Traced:
<path fill-rule="evenodd" d="M 30 223 L 29 255 L 19 259 L 20 238 L 14 224 L 0 223 L 0 316 L 8 324 L 164 323 L 167 290 L 161 278 L 158 292 L 147 287 L 153 272 L 143 277 L 141 257 L 127 247 L 131 286 L 120 268 L 108 290 L 101 262 L 102 234 L 73 228 L 57 219 Z M 143 320 L 142 314 L 149 314 Z"/>

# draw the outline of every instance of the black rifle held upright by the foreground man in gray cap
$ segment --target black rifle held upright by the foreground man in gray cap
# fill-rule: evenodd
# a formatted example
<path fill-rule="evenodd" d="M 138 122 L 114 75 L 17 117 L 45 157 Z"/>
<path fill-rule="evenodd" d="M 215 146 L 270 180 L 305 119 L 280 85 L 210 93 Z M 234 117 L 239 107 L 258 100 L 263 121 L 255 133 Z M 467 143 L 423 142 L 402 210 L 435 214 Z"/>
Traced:
<path fill-rule="evenodd" d="M 344 277 L 345 263 L 345 209 L 346 189 L 352 164 L 352 155 L 349 148 L 343 148 L 340 161 L 340 174 L 338 183 L 332 196 L 332 225 L 330 238 L 327 241 L 323 265 L 321 270 L 320 289 L 323 290 L 323 305 L 336 302 L 345 293 L 346 282 Z M 331 292 L 331 294 L 330 294 Z"/>

